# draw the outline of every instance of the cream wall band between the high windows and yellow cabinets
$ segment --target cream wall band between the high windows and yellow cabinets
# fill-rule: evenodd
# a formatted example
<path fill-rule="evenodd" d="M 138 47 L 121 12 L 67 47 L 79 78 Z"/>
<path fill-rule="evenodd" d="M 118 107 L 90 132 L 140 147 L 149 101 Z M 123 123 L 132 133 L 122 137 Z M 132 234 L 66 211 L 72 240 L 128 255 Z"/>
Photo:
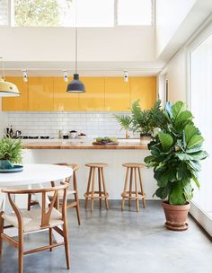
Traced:
<path fill-rule="evenodd" d="M 75 29 L 0 27 L 1 56 L 6 61 L 72 61 Z M 80 28 L 80 61 L 151 61 L 155 31 L 151 26 Z"/>

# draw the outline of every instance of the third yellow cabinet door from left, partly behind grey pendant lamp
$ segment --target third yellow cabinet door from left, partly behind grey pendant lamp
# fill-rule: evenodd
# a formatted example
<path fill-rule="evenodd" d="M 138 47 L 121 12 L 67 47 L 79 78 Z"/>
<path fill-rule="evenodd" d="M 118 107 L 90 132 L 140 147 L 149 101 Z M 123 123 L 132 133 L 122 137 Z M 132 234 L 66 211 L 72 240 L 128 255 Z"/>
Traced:
<path fill-rule="evenodd" d="M 67 84 L 63 77 L 54 77 L 54 110 L 79 110 L 79 95 L 66 92 Z"/>

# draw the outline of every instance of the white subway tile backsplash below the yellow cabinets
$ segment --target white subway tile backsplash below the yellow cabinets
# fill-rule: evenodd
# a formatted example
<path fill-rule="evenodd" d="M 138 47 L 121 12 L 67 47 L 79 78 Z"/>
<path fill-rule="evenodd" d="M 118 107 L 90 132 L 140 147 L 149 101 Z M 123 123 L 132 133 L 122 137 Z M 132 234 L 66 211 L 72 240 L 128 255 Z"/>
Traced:
<path fill-rule="evenodd" d="M 8 112 L 8 126 L 22 136 L 58 137 L 58 130 L 77 130 L 88 137 L 125 137 L 114 114 L 128 112 Z"/>

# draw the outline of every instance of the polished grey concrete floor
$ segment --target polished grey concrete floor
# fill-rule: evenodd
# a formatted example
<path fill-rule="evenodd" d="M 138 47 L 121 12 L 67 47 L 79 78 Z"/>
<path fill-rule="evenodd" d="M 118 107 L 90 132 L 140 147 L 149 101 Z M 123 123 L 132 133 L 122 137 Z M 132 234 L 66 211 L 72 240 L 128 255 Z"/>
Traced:
<path fill-rule="evenodd" d="M 70 211 L 70 210 L 69 210 Z M 82 206 L 82 225 L 78 226 L 75 209 L 68 213 L 71 270 L 66 270 L 64 248 L 42 251 L 24 258 L 27 273 L 211 273 L 212 244 L 189 219 L 190 229 L 172 232 L 164 228 L 160 202 L 149 201 L 139 214 L 120 211 L 117 201 L 110 210 L 95 207 L 93 215 Z M 25 246 L 48 243 L 48 233 L 25 236 Z M 1 273 L 17 272 L 16 250 L 4 242 Z"/>

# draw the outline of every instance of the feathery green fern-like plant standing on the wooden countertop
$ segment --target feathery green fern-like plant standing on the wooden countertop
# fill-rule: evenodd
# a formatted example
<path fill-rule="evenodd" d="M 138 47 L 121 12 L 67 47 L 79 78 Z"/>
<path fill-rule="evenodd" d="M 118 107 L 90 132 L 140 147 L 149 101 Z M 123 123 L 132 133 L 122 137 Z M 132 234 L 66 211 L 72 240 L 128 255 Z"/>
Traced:
<path fill-rule="evenodd" d="M 153 136 L 155 128 L 159 125 L 165 127 L 167 118 L 161 110 L 161 101 L 155 101 L 150 110 L 142 110 L 139 101 L 134 101 L 131 106 L 130 115 L 115 115 L 121 129 L 139 133 L 142 136 Z"/>

